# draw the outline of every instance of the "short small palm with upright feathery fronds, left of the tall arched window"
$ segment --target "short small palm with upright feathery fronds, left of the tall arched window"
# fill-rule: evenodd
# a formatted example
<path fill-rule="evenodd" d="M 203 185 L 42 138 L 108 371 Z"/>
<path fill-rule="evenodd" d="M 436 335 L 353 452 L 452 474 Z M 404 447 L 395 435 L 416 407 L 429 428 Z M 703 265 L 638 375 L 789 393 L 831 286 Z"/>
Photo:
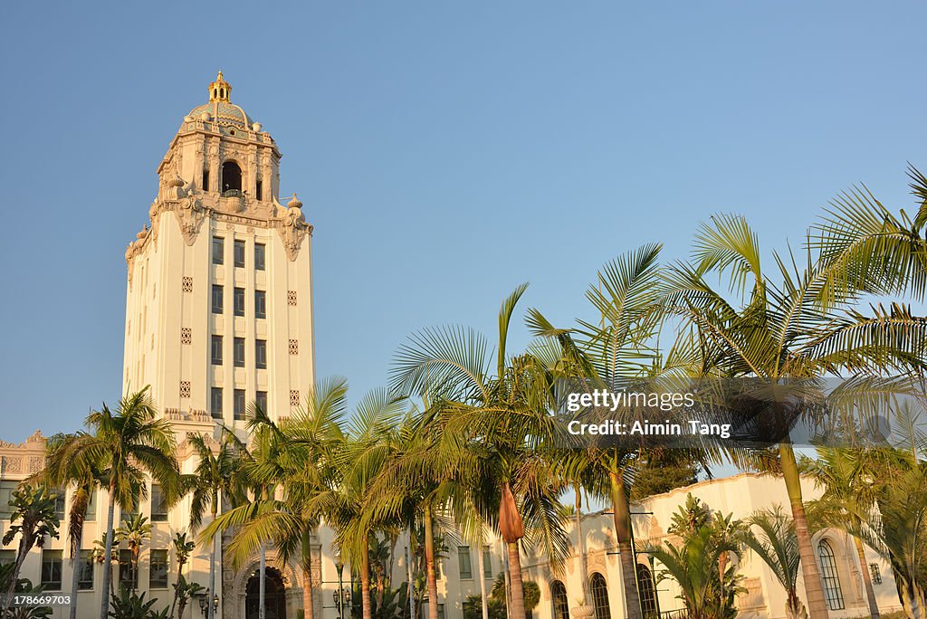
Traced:
<path fill-rule="evenodd" d="M 756 552 L 756 556 L 766 563 L 772 574 L 785 589 L 785 616 L 788 619 L 805 619 L 805 604 L 798 597 L 798 536 L 790 518 L 777 504 L 772 509 L 755 512 L 747 519 L 751 527 L 743 543 Z M 759 530 L 759 537 L 752 528 Z M 865 563 L 864 563 L 865 565 Z"/>

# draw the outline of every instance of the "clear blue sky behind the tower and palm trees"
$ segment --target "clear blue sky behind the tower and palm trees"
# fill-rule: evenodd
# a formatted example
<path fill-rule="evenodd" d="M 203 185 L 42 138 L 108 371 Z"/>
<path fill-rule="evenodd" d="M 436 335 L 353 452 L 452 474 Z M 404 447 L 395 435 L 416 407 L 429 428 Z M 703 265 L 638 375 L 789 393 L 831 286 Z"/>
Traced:
<path fill-rule="evenodd" d="M 910 207 L 924 23 L 922 2 L 5 3 L 0 438 L 119 396 L 123 252 L 216 69 L 284 153 L 318 372 L 358 398 L 410 332 L 489 333 L 526 280 L 525 307 L 589 315 L 604 261 L 680 257 L 713 212 L 781 246 L 851 183 Z"/>

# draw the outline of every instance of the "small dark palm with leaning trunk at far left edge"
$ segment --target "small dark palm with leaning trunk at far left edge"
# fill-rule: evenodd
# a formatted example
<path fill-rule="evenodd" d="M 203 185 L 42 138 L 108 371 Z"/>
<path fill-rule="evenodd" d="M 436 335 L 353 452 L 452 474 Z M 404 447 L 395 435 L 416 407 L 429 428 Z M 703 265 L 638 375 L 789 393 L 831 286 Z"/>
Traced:
<path fill-rule="evenodd" d="M 9 518 L 10 526 L 3 537 L 3 545 L 6 546 L 19 536 L 19 548 L 13 572 L 9 576 L 3 613 L 0 613 L 3 616 L 9 611 L 19 578 L 19 569 L 26 560 L 26 555 L 33 546 L 41 548 L 45 537 L 58 537 L 57 528 L 60 521 L 57 517 L 55 499 L 57 496 L 51 494 L 45 486 L 19 486 L 13 491 L 13 498 L 9 501 L 13 512 Z"/>

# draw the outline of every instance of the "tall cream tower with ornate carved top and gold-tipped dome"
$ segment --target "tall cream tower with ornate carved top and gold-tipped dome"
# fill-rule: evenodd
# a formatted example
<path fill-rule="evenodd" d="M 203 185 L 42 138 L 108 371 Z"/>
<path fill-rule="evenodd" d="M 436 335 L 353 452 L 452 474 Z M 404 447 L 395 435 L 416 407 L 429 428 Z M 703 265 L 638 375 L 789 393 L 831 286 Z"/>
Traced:
<path fill-rule="evenodd" d="M 123 392 L 151 385 L 178 429 L 243 427 L 255 400 L 279 418 L 314 379 L 312 227 L 278 202 L 280 151 L 231 91 L 220 71 L 184 117 L 125 254 Z"/>

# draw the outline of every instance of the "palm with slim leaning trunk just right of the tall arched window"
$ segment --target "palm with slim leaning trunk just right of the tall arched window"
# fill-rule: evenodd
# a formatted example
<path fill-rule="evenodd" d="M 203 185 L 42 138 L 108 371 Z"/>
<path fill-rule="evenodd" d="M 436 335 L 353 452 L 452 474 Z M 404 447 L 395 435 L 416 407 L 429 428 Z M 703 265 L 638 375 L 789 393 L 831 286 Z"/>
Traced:
<path fill-rule="evenodd" d="M 824 490 L 823 496 L 814 501 L 820 509 L 817 511 L 824 518 L 824 523 L 838 526 L 850 533 L 857 550 L 859 570 L 866 587 L 869 600 L 870 617 L 879 619 L 879 605 L 872 588 L 872 576 L 866 562 L 866 550 L 862 539 L 854 535 L 859 531 L 862 520 L 858 514 L 869 514 L 875 506 L 875 496 L 871 479 L 871 460 L 874 455 L 867 448 L 818 448 L 815 459 L 802 457 L 802 473 L 811 476 L 815 485 Z M 849 509 L 847 509 L 849 508 Z"/>

